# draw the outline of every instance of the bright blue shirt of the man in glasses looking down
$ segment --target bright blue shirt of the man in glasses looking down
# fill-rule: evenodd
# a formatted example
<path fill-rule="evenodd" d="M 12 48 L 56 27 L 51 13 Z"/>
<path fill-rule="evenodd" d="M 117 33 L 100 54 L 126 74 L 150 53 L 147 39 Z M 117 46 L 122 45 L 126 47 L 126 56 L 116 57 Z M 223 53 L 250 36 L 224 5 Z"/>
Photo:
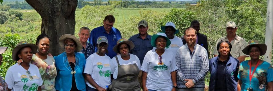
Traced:
<path fill-rule="evenodd" d="M 113 58 L 117 55 L 113 51 L 113 47 L 117 45 L 117 41 L 121 39 L 121 33 L 117 28 L 112 27 L 112 30 L 110 30 L 109 34 L 105 31 L 103 26 L 94 28 L 90 32 L 90 37 L 88 39 L 89 43 L 92 44 L 95 47 L 95 51 L 98 51 L 98 48 L 96 46 L 97 39 L 100 36 L 105 36 L 108 39 L 108 53 L 106 53 L 107 56 L 110 58 Z"/>

